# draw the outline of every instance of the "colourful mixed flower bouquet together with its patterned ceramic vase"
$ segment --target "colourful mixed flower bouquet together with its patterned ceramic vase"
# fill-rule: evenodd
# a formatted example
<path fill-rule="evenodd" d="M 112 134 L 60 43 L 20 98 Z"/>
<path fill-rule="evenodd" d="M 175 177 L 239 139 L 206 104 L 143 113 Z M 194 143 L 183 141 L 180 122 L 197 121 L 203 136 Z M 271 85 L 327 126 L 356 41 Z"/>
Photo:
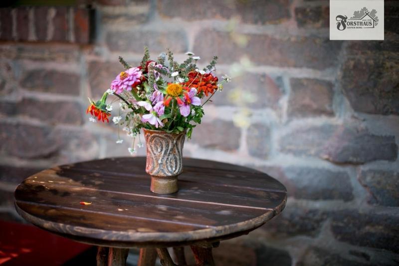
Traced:
<path fill-rule="evenodd" d="M 187 52 L 183 63 L 174 60 L 172 51 L 161 53 L 156 61 L 150 60 L 147 47 L 140 66 L 133 67 L 122 57 L 119 61 L 125 71 L 111 82 L 100 100 L 90 100 L 87 113 L 98 121 L 109 122 L 112 103 L 119 100 L 119 115 L 112 121 L 133 137 L 128 150 L 136 152 L 135 139 L 143 128 L 147 143 L 146 172 L 151 175 L 151 191 L 174 193 L 178 190 L 177 176 L 182 173 L 182 154 L 185 137 L 191 137 L 193 128 L 201 123 L 203 105 L 223 82 L 214 76 L 217 57 L 203 69 L 197 67 L 199 56 Z M 108 103 L 110 95 L 115 96 Z M 97 120 L 90 117 L 90 120 Z M 119 133 L 118 133 L 119 135 Z M 139 137 L 140 140 L 140 137 Z M 117 143 L 123 140 L 118 139 Z M 142 146 L 141 142 L 138 146 Z"/>

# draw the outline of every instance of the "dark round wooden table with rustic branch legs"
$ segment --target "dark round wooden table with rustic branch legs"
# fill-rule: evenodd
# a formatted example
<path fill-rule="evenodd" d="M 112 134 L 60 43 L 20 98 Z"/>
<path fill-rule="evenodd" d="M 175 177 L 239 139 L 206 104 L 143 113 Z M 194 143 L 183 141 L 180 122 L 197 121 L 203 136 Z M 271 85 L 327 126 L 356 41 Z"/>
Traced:
<path fill-rule="evenodd" d="M 212 247 L 260 227 L 285 206 L 287 192 L 265 173 L 231 164 L 184 159 L 179 191 L 154 194 L 144 157 L 63 165 L 25 179 L 15 208 L 28 222 L 99 246 L 97 265 L 125 265 L 141 247 L 139 265 L 184 265 L 190 245 L 198 265 L 213 265 Z M 81 203 L 91 203 L 82 205 Z"/>

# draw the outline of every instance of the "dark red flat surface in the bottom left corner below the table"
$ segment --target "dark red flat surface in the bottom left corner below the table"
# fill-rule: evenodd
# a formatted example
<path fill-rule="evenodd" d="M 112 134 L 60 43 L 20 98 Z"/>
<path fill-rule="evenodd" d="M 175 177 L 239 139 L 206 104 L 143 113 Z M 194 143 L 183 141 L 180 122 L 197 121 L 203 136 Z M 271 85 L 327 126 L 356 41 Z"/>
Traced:
<path fill-rule="evenodd" d="M 59 266 L 90 247 L 31 225 L 0 221 L 1 266 Z"/>

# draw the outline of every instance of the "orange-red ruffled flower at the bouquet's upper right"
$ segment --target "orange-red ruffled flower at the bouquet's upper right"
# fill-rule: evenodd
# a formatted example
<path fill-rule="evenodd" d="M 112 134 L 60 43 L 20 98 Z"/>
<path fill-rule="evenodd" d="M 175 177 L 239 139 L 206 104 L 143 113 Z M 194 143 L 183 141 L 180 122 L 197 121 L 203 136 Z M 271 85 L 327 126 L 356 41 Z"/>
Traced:
<path fill-rule="evenodd" d="M 203 92 L 206 96 L 213 94 L 214 90 L 217 89 L 218 78 L 214 77 L 211 73 L 201 74 L 199 72 L 190 72 L 189 81 L 185 83 L 185 86 L 190 88 L 194 87 L 198 93 Z"/>

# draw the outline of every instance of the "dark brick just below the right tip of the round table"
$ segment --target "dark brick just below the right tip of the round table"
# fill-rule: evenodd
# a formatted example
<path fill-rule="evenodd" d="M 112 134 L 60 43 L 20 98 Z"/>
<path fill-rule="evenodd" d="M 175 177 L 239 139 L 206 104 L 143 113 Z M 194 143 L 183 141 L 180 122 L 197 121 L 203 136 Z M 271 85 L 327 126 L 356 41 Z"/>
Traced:
<path fill-rule="evenodd" d="M 290 195 L 290 194 L 288 194 Z M 327 214 L 295 204 L 287 205 L 281 214 L 262 226 L 271 237 L 317 237 Z"/>

